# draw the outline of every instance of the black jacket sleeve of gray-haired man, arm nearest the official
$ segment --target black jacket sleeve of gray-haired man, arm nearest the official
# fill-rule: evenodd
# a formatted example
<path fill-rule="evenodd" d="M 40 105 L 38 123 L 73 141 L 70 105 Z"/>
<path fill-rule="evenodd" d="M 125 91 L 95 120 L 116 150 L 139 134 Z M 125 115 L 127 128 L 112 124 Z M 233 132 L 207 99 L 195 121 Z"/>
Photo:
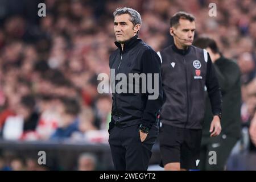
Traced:
<path fill-rule="evenodd" d="M 154 50 L 147 49 L 146 51 L 144 51 L 141 59 L 142 73 L 145 73 L 146 77 L 148 73 L 152 73 L 152 77 L 151 79 L 147 77 L 147 84 L 146 84 L 147 102 L 146 102 L 146 107 L 143 111 L 141 124 L 149 128 L 151 128 L 152 125 L 156 122 L 157 114 L 159 113 L 163 105 L 163 88 L 162 88 L 162 78 L 160 73 L 160 64 L 161 64 L 160 58 Z M 158 74 L 157 80 L 154 80 L 155 73 Z M 148 90 L 148 82 L 152 83 L 152 85 L 149 86 L 149 88 L 154 88 L 153 93 L 152 93 L 152 90 Z"/>

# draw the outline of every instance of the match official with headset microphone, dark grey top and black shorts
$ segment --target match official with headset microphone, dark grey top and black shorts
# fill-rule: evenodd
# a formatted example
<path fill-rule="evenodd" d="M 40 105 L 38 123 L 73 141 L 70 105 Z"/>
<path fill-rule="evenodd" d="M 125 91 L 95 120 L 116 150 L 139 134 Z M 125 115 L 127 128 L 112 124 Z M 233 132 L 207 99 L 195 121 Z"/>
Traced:
<path fill-rule="evenodd" d="M 221 132 L 221 92 L 209 53 L 192 46 L 195 18 L 179 12 L 172 16 L 174 44 L 158 52 L 161 60 L 164 104 L 159 133 L 165 170 L 197 169 L 200 162 L 204 88 L 207 87 L 213 120 L 210 136 Z"/>

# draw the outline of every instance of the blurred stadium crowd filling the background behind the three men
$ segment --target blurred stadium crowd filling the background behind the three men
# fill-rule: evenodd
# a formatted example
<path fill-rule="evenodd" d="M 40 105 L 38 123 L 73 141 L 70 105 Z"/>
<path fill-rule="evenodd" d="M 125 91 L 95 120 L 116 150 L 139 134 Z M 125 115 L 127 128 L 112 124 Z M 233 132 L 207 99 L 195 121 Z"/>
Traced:
<path fill-rule="evenodd" d="M 109 75 L 116 49 L 113 11 L 132 7 L 142 16 L 139 37 L 155 51 L 172 43 L 174 13 L 195 15 L 195 36 L 209 35 L 241 68 L 241 125 L 256 145 L 256 1 L 46 0 L 46 17 L 39 17 L 40 2 L 1 1 L 2 139 L 106 142 L 112 98 L 97 92 L 97 76 Z M 216 17 L 208 15 L 212 2 Z"/>

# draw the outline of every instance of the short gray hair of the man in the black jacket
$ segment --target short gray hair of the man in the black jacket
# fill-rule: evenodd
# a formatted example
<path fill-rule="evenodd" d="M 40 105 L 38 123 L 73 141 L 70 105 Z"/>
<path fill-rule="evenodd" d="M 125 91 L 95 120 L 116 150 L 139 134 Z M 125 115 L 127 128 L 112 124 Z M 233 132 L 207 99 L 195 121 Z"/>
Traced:
<path fill-rule="evenodd" d="M 141 24 L 141 15 L 138 11 L 131 9 L 130 7 L 122 7 L 116 9 L 113 13 L 114 17 L 122 14 L 129 14 L 131 16 L 130 21 L 134 26 L 136 24 Z"/>

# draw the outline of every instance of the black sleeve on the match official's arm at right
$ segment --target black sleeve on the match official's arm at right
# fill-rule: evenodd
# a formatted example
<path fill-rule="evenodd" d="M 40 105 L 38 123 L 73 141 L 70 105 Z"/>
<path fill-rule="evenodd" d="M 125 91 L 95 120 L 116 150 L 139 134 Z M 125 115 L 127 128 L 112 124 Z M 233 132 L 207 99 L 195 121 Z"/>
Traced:
<path fill-rule="evenodd" d="M 221 89 L 218 85 L 218 78 L 216 71 L 213 67 L 212 60 L 209 53 L 207 53 L 207 77 L 205 85 L 207 86 L 207 92 L 210 98 L 210 104 L 212 106 L 212 114 L 221 116 L 222 96 Z"/>

